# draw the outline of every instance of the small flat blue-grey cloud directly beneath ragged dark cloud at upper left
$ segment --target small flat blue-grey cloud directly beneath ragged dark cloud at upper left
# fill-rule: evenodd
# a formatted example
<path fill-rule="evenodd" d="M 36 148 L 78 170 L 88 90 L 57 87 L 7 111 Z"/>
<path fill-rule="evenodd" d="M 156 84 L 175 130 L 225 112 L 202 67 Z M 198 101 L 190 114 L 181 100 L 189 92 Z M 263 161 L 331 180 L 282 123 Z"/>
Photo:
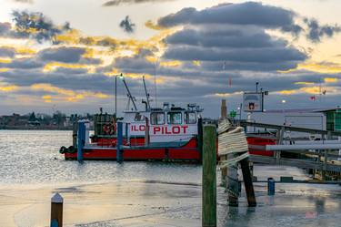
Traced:
<path fill-rule="evenodd" d="M 57 48 L 46 48 L 37 54 L 37 58 L 43 61 L 77 63 L 84 53 L 85 48 L 62 46 Z"/>

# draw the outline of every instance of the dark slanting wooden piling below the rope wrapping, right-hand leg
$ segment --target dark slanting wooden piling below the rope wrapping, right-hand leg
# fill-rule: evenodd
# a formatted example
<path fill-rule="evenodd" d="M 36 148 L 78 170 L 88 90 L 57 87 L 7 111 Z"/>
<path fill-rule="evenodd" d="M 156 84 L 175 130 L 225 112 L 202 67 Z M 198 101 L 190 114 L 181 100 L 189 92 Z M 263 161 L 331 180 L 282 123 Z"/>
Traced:
<path fill-rule="evenodd" d="M 243 180 L 246 188 L 246 197 L 249 207 L 256 207 L 256 196 L 254 191 L 254 185 L 252 182 L 252 175 L 249 168 L 249 163 L 247 159 L 240 161 L 240 166 L 243 172 Z"/>

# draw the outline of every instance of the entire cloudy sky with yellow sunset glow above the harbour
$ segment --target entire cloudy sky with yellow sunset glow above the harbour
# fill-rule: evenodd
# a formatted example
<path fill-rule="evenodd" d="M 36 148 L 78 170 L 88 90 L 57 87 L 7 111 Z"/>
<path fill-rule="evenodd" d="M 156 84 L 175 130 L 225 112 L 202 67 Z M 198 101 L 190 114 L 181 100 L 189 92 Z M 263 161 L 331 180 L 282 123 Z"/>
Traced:
<path fill-rule="evenodd" d="M 267 109 L 341 104 L 338 0 L 0 4 L 0 114 L 112 112 L 120 73 L 141 108 L 143 76 L 153 106 L 197 103 L 209 117 L 222 98 L 236 109 L 256 82 Z"/>

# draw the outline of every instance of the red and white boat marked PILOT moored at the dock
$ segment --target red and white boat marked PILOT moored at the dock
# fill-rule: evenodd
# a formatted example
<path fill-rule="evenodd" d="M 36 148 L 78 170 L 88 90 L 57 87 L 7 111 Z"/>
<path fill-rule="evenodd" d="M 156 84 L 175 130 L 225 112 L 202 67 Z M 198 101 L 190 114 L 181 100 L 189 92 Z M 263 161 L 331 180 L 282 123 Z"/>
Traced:
<path fill-rule="evenodd" d="M 164 103 L 163 108 L 151 108 L 145 89 L 145 109 L 137 110 L 126 83 L 125 88 L 134 108 L 125 110 L 124 118 L 117 122 L 112 115 L 96 115 L 92 137 L 88 124 L 83 122 L 85 129 L 77 129 L 74 146 L 60 150 L 65 160 L 201 161 L 202 108 L 196 104 L 180 108 L 169 103 Z"/>

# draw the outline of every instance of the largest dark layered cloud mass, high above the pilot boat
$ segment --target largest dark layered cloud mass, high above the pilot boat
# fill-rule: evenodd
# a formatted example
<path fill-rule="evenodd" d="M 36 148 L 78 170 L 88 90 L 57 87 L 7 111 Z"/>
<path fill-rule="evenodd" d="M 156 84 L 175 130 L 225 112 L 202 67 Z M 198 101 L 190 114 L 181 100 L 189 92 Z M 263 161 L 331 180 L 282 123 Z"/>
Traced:
<path fill-rule="evenodd" d="M 266 33 L 267 28 L 299 34 L 296 13 L 260 3 L 216 5 L 197 11 L 183 9 L 159 19 L 159 26 L 185 25 L 165 38 L 164 59 L 200 61 L 197 70 L 276 71 L 295 68 L 306 53 L 286 40 Z M 186 26 L 189 25 L 189 26 Z"/>

